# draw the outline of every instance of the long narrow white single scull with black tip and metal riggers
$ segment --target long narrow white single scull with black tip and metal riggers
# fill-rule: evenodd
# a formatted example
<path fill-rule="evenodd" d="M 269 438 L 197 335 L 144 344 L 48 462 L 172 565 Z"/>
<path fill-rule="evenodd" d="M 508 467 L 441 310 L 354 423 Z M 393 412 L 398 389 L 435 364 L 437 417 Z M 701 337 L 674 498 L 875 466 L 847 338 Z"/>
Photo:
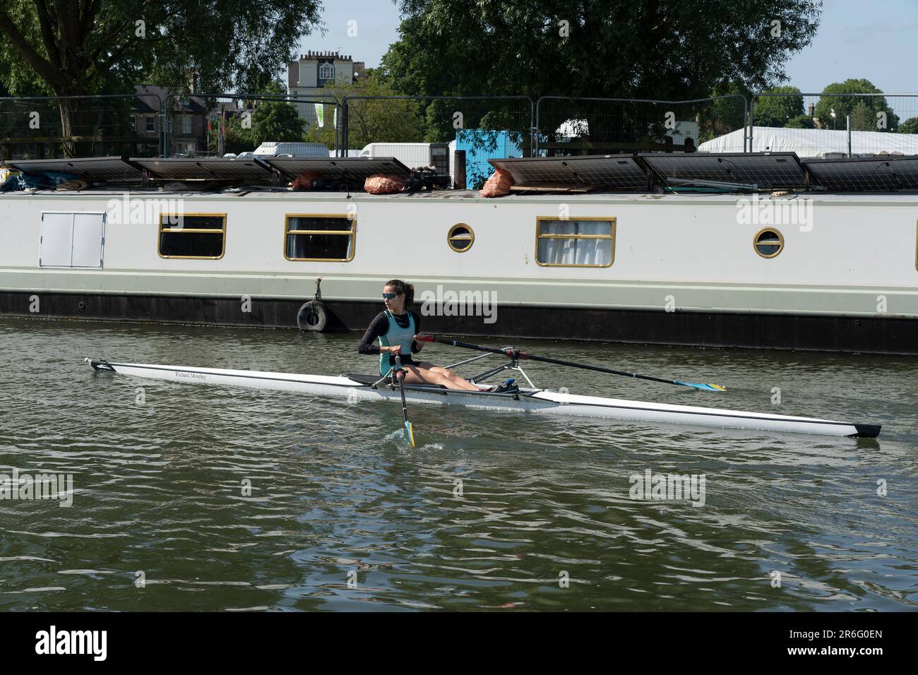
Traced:
<path fill-rule="evenodd" d="M 466 346 L 465 344 L 461 344 Z M 474 345 L 472 345 L 474 346 Z M 525 354 L 516 350 L 491 350 L 498 353 Z M 453 366 L 470 363 L 488 354 L 466 359 Z M 538 357 L 536 357 L 538 358 Z M 217 384 L 234 387 L 296 391 L 316 396 L 356 400 L 395 400 L 409 403 L 461 405 L 467 408 L 495 411 L 524 411 L 543 414 L 560 414 L 583 417 L 599 417 L 633 422 L 662 422 L 686 424 L 701 427 L 750 429 L 780 433 L 819 433 L 833 436 L 854 436 L 876 438 L 879 424 L 837 422 L 807 417 L 772 415 L 756 412 L 731 411 L 718 408 L 650 403 L 626 399 L 606 399 L 594 396 L 578 396 L 551 389 L 513 388 L 509 392 L 468 391 L 439 386 L 404 384 L 404 399 L 397 383 L 381 380 L 375 376 L 341 375 L 297 375 L 292 373 L 269 373 L 255 370 L 229 370 L 188 366 L 162 366 L 152 364 L 128 364 L 113 361 L 85 359 L 96 371 L 110 371 L 121 375 L 165 379 L 194 384 Z M 482 382 L 488 377 L 508 369 L 520 371 L 532 385 L 516 360 L 509 364 L 491 368 L 484 373 L 468 378 Z M 683 384 L 683 383 L 680 383 Z M 407 422 L 407 420 L 406 420 Z"/>

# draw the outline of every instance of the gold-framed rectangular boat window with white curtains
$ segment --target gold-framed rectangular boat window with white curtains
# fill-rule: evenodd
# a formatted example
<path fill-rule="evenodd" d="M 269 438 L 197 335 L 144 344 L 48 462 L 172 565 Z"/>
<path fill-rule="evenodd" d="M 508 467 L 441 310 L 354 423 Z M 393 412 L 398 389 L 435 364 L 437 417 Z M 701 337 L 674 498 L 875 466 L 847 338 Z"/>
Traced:
<path fill-rule="evenodd" d="M 536 262 L 556 267 L 610 267 L 615 260 L 615 219 L 540 218 Z"/>

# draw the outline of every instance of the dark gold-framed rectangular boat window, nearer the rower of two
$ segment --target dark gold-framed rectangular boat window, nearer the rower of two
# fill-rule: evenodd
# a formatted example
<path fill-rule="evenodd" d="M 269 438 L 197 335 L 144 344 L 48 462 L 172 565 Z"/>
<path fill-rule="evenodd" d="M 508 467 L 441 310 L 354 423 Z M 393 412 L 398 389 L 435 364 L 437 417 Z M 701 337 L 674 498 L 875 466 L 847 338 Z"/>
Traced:
<path fill-rule="evenodd" d="M 357 221 L 347 216 L 289 214 L 284 232 L 287 260 L 349 263 L 353 260 Z"/>

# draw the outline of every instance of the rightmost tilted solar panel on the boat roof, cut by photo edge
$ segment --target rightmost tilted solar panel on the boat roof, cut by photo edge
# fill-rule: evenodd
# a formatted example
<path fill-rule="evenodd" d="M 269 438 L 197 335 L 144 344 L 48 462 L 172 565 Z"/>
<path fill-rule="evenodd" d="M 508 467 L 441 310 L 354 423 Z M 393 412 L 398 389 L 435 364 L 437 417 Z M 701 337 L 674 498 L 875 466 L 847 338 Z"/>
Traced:
<path fill-rule="evenodd" d="M 803 160 L 813 180 L 836 192 L 918 190 L 918 157 Z"/>

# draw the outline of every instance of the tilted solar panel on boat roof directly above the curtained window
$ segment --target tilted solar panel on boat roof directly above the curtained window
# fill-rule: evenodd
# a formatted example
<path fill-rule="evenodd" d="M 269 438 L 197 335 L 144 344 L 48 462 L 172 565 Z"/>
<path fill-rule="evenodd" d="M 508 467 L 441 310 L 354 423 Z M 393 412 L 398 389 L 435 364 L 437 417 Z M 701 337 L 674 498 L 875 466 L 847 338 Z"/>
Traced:
<path fill-rule="evenodd" d="M 488 160 L 509 171 L 514 187 L 540 186 L 643 189 L 647 174 L 630 154 L 585 155 L 583 157 L 519 157 Z"/>

